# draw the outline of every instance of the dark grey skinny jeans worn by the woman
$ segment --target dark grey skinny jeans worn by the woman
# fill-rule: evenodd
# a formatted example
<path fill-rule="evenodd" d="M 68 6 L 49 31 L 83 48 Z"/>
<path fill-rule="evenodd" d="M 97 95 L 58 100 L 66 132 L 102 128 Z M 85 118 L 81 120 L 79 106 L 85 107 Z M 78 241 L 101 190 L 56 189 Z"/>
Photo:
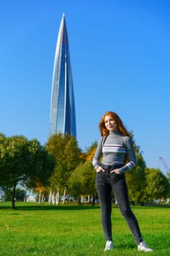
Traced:
<path fill-rule="evenodd" d="M 131 211 L 131 206 L 128 200 L 128 189 L 125 182 L 125 176 L 109 173 L 110 170 L 117 169 L 119 166 L 102 165 L 106 172 L 100 171 L 96 173 L 96 188 L 98 197 L 101 203 L 101 222 L 104 229 L 104 235 L 107 241 L 112 241 L 112 203 L 111 203 L 111 192 L 114 192 L 117 200 L 117 205 L 120 208 L 121 214 L 128 223 L 128 227 L 134 236 L 136 244 L 140 244 L 142 241 L 142 235 L 140 233 L 139 225 Z"/>

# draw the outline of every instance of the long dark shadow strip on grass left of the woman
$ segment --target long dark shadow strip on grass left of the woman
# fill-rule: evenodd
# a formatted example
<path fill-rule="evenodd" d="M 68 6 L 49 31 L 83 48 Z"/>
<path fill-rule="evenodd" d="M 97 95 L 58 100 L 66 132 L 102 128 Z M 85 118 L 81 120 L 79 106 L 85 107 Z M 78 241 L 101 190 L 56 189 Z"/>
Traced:
<path fill-rule="evenodd" d="M 15 209 L 12 209 L 11 206 L 0 204 L 0 210 L 12 210 L 12 211 L 81 211 L 81 210 L 94 210 L 98 209 L 100 206 L 90 206 L 90 205 L 58 205 L 58 206 L 50 206 L 50 205 L 26 205 L 26 203 L 20 203 L 18 205 L 16 203 Z"/>

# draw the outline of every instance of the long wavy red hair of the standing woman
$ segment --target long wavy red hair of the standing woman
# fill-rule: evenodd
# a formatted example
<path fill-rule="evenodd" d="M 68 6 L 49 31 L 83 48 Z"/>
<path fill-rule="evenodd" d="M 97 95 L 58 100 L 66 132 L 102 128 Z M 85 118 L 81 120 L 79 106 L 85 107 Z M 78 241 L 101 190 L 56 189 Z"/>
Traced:
<path fill-rule="evenodd" d="M 117 123 L 118 131 L 121 134 L 125 135 L 125 136 L 129 136 L 128 131 L 127 131 L 127 129 L 125 129 L 125 127 L 123 125 L 123 122 L 120 119 L 120 117 L 117 115 L 117 113 L 112 112 L 112 111 L 108 111 L 107 113 L 104 113 L 103 116 L 101 116 L 101 121 L 98 124 L 101 136 L 108 136 L 109 135 L 109 131 L 105 127 L 105 122 L 104 122 L 105 116 L 111 116 L 114 119 L 114 121 Z"/>

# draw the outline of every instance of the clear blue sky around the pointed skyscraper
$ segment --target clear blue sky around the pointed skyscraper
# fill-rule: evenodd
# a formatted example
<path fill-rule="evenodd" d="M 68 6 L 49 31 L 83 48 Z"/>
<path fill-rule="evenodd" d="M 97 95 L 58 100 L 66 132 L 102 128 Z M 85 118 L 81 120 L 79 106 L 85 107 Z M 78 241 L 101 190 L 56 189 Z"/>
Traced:
<path fill-rule="evenodd" d="M 63 12 L 69 34 L 77 141 L 98 140 L 108 110 L 134 132 L 147 167 L 170 167 L 169 0 L 7 0 L 0 3 L 0 132 L 44 145 Z"/>

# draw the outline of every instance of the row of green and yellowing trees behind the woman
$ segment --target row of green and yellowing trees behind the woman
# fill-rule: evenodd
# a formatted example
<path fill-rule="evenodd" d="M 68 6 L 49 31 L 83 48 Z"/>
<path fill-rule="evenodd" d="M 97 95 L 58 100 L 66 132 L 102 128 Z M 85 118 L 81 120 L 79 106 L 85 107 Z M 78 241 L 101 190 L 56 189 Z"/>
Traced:
<path fill-rule="evenodd" d="M 74 198 L 90 196 L 94 204 L 97 193 L 92 158 L 96 146 L 95 142 L 82 152 L 77 140 L 70 135 L 53 135 L 45 146 L 41 146 L 37 140 L 27 140 L 23 136 L 7 138 L 1 134 L 0 187 L 12 192 L 12 208 L 15 208 L 15 192 L 19 184 L 39 192 L 43 200 L 49 195 L 58 199 L 62 193 L 63 203 L 65 195 L 69 194 Z M 170 197 L 170 174 L 166 177 L 159 169 L 147 168 L 135 143 L 134 148 L 138 164 L 125 173 L 130 200 L 143 204 Z"/>

